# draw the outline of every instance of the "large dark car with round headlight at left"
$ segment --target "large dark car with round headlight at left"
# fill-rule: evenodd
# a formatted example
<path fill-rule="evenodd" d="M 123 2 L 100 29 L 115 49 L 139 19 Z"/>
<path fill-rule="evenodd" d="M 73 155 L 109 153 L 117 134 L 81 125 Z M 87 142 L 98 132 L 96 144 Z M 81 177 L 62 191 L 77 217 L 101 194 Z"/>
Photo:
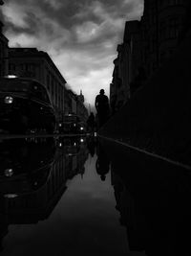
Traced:
<path fill-rule="evenodd" d="M 55 125 L 53 104 L 44 85 L 30 79 L 0 79 L 1 131 L 45 129 L 53 133 Z"/>

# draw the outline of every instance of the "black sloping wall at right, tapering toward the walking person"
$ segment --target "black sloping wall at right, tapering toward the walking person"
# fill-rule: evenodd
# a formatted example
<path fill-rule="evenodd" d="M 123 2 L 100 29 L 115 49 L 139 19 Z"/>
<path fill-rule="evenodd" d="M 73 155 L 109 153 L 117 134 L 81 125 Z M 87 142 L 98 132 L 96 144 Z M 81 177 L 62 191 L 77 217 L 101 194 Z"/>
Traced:
<path fill-rule="evenodd" d="M 190 165 L 191 31 L 99 134 Z"/>

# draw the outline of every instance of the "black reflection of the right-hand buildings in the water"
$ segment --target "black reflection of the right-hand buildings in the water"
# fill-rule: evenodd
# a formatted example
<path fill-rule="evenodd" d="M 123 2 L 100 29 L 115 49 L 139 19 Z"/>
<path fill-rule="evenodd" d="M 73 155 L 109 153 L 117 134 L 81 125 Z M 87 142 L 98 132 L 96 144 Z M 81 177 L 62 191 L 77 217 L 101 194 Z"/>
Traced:
<path fill-rule="evenodd" d="M 116 209 L 130 251 L 191 255 L 190 173 L 108 141 L 103 145 L 111 157 Z"/>

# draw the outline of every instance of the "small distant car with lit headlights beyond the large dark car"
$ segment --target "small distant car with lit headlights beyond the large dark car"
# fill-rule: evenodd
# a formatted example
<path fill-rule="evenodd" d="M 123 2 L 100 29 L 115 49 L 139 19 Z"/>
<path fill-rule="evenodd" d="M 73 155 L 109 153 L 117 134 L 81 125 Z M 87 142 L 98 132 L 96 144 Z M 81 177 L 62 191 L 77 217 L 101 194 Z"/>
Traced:
<path fill-rule="evenodd" d="M 74 114 L 64 115 L 63 122 L 60 125 L 60 131 L 64 133 L 82 134 L 86 132 L 84 122 Z"/>

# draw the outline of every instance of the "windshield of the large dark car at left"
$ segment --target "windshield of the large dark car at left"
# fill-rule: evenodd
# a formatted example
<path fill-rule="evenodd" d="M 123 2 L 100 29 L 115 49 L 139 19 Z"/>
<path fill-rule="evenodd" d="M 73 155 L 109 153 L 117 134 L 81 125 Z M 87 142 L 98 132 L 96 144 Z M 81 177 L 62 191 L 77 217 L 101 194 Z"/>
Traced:
<path fill-rule="evenodd" d="M 29 90 L 29 82 L 0 81 L 0 92 L 28 92 Z"/>

